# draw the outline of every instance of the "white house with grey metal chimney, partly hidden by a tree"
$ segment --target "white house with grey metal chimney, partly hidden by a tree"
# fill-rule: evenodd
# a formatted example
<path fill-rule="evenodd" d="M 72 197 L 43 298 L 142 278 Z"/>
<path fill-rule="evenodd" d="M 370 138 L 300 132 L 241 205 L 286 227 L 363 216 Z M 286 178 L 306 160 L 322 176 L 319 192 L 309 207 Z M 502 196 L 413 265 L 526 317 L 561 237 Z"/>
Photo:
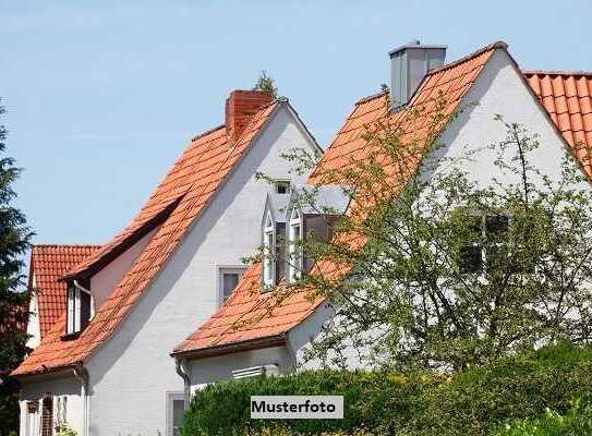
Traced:
<path fill-rule="evenodd" d="M 592 177 L 592 73 L 521 71 L 504 43 L 495 43 L 449 63 L 444 63 L 445 52 L 444 46 L 421 46 L 418 41 L 390 52 L 390 96 L 383 92 L 354 105 L 310 182 L 322 183 L 321 169 L 338 168 L 348 161 L 347 156 L 363 159 L 365 126 L 373 122 L 389 118 L 407 125 L 404 135 L 421 134 L 415 126 L 430 117 L 430 109 L 416 120 L 410 114 L 440 93 L 446 113 L 464 109 L 439 132 L 438 142 L 443 147 L 438 153 L 444 156 L 458 156 L 466 145 L 482 147 L 504 140 L 505 128 L 494 121 L 494 116 L 500 113 L 506 120 L 523 123 L 540 134 L 544 147 L 535 152 L 533 159 L 544 172 L 557 177 L 557 162 L 567 147 L 582 170 Z M 480 160 L 466 161 L 464 166 L 481 183 L 487 183 L 495 171 L 495 167 L 484 168 Z M 496 175 L 500 181 L 512 177 Z M 290 206 L 275 222 L 277 213 L 269 214 L 269 210 L 275 208 L 262 209 L 267 220 L 262 228 L 265 250 L 274 244 L 274 226 L 281 227 L 289 242 L 295 232 L 287 232 L 286 222 L 294 218 L 295 228 L 302 226 L 301 218 Z M 264 259 L 245 271 L 232 295 L 215 315 L 196 326 L 197 329 L 174 348 L 172 356 L 186 368 L 188 390 L 195 392 L 206 384 L 223 379 L 289 373 L 301 364 L 317 367 L 318 362 L 304 362 L 303 352 L 334 311 L 324 299 L 311 301 L 304 290 L 298 289 L 275 303 L 267 292 L 268 286 L 279 284 L 281 289 L 290 275 L 283 272 L 283 278 L 278 277 L 270 262 Z M 330 265 L 318 267 L 323 272 L 331 272 L 324 270 Z M 348 364 L 354 367 L 361 362 L 350 354 Z"/>

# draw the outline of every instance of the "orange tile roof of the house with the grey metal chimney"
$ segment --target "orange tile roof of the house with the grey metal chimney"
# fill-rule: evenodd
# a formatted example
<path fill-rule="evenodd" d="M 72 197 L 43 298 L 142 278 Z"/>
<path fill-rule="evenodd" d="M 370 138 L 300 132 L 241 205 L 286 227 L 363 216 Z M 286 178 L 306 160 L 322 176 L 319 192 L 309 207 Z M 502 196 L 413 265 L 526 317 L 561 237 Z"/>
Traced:
<path fill-rule="evenodd" d="M 445 98 L 445 113 L 455 112 L 462 97 L 475 82 L 479 73 L 495 49 L 506 49 L 504 43 L 487 46 L 475 53 L 432 71 L 423 81 L 407 108 L 397 112 L 388 111 L 385 93 L 364 98 L 355 105 L 337 136 L 323 155 L 317 169 L 311 175 L 313 182 L 323 183 L 322 174 L 330 168 L 339 168 L 350 162 L 351 158 L 363 158 L 366 141 L 363 134 L 366 126 L 385 117 L 401 125 L 404 138 L 418 137 L 427 133 L 426 122 L 435 110 L 434 99 L 439 93 Z M 420 117 L 411 116 L 414 109 L 423 108 Z M 343 271 L 335 265 L 322 263 L 318 268 L 324 276 L 335 277 Z M 281 289 L 281 287 L 280 287 Z M 281 294 L 281 290 L 280 290 Z M 245 272 L 237 290 L 193 335 L 180 343 L 173 353 L 190 353 L 197 356 L 225 352 L 231 346 L 247 343 L 263 338 L 281 337 L 305 320 L 323 302 L 309 299 L 306 290 L 288 291 L 279 304 L 275 304 L 274 293 L 261 292 L 261 264 L 252 265 Z"/>

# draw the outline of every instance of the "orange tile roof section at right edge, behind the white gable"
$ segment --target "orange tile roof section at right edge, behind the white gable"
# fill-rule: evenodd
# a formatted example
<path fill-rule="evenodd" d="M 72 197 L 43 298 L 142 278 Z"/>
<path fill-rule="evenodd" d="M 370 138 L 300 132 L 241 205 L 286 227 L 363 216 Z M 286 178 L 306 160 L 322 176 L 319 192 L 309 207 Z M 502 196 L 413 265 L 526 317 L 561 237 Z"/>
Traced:
<path fill-rule="evenodd" d="M 530 86 L 592 177 L 592 73 L 524 71 Z"/>

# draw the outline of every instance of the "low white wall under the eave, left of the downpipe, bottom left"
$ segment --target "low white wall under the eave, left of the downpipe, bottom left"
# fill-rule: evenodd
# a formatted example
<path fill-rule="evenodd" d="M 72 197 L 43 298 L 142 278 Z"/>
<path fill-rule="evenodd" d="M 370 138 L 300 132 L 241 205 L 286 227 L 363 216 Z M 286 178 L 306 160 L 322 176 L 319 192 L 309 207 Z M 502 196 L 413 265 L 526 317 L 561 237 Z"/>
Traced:
<path fill-rule="evenodd" d="M 26 415 L 27 402 L 38 401 L 38 410 L 41 410 L 40 400 L 51 396 L 53 408 L 57 405 L 57 398 L 67 398 L 67 422 L 78 435 L 82 435 L 84 407 L 81 397 L 81 383 L 74 375 L 35 376 L 35 378 L 21 379 L 21 436 L 27 436 Z M 40 413 L 39 413 L 40 414 Z M 56 419 L 56 413 L 53 414 Z"/>

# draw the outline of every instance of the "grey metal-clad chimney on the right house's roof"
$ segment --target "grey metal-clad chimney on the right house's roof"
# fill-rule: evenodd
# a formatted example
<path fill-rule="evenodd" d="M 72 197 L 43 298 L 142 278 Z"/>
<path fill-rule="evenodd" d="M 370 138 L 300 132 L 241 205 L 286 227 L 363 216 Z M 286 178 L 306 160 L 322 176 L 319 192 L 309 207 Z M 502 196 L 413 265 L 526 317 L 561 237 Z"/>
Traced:
<path fill-rule="evenodd" d="M 422 46 L 412 40 L 390 56 L 390 105 L 397 109 L 409 102 L 428 71 L 444 65 L 446 46 Z"/>

